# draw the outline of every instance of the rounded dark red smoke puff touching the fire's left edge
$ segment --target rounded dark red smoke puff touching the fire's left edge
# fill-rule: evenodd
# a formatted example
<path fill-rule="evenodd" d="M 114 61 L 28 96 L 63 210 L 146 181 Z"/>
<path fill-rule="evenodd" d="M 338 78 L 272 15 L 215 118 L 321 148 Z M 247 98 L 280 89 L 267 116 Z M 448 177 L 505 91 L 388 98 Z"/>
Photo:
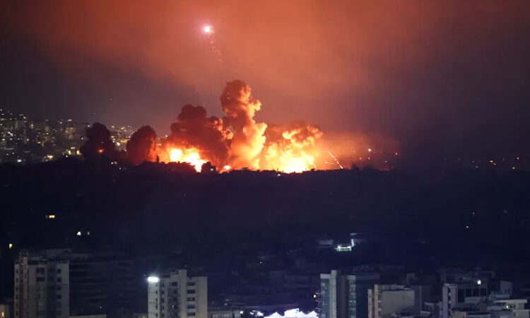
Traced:
<path fill-rule="evenodd" d="M 156 133 L 151 126 L 142 126 L 127 143 L 127 158 L 134 165 L 155 161 L 157 156 Z"/>

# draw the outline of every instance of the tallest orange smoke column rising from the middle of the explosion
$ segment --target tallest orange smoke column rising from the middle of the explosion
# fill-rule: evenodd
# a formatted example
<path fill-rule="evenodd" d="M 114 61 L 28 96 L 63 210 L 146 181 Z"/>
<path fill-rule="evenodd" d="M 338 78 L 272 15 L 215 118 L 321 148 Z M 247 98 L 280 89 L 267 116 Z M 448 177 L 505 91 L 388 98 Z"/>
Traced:
<path fill-rule="evenodd" d="M 234 131 L 230 144 L 230 163 L 239 169 L 259 169 L 259 154 L 265 143 L 265 123 L 256 123 L 254 114 L 261 108 L 261 102 L 252 98 L 250 86 L 235 80 L 226 84 L 220 95 L 221 107 L 226 113 L 223 120 Z"/>

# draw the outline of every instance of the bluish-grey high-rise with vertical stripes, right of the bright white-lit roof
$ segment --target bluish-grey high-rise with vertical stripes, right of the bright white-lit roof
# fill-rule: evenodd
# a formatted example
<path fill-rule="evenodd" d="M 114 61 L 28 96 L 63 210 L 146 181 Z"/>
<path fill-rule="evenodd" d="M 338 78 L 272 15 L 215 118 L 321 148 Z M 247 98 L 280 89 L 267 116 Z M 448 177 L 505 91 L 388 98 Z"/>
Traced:
<path fill-rule="evenodd" d="M 368 314 L 368 288 L 379 281 L 379 273 L 342 275 L 331 271 L 320 275 L 319 317 L 364 318 Z"/>

